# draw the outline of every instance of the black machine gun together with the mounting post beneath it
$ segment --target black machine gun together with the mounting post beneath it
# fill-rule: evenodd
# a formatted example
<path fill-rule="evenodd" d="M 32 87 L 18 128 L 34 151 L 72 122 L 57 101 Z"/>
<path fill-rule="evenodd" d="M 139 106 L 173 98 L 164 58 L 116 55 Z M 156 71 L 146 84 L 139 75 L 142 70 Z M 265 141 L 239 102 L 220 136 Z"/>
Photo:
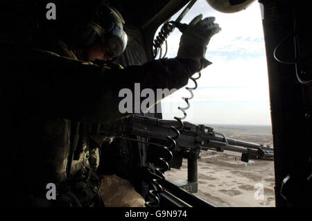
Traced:
<path fill-rule="evenodd" d="M 179 124 L 179 121 L 175 120 L 162 120 L 147 116 L 132 115 L 119 122 L 101 125 L 99 132 L 108 133 L 122 139 L 137 141 L 139 143 L 146 143 L 148 145 L 166 145 L 168 147 L 168 137 L 171 138 L 176 135 L 173 128 L 179 128 Z M 173 180 L 171 183 L 183 188 L 189 193 L 198 192 L 198 159 L 200 158 L 201 150 L 214 150 L 217 152 L 229 150 L 232 152 L 240 152 L 242 153 L 241 160 L 245 162 L 248 162 L 249 159 L 273 160 L 273 148 L 255 143 L 228 139 L 225 135 L 215 132 L 212 127 L 195 125 L 184 121 L 183 127 L 180 127 L 178 132 L 180 134 L 175 139 L 175 149 L 171 150 L 175 152 L 175 162 L 171 161 L 170 164 L 173 168 L 180 168 L 182 159 L 186 158 L 188 179 Z M 147 139 L 130 139 L 130 135 Z M 164 182 L 162 183 L 163 185 L 171 185 L 169 182 Z M 185 194 L 182 194 L 181 196 L 184 195 Z"/>

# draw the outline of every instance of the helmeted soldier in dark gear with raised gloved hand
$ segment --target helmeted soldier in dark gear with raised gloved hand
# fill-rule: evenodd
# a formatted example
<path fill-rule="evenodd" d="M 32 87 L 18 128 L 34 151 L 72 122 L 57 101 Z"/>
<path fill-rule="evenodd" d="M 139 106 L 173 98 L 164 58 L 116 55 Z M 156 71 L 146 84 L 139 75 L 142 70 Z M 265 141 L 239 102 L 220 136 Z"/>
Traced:
<path fill-rule="evenodd" d="M 135 82 L 155 91 L 179 89 L 211 64 L 205 52 L 220 28 L 200 15 L 184 30 L 176 58 L 124 69 L 94 65 L 118 57 L 127 43 L 119 12 L 102 3 L 94 10 L 88 21 L 72 24 L 69 33 L 60 28 L 49 42 L 1 39 L 5 206 L 144 206 L 129 182 L 96 175 L 98 146 L 111 139 L 98 136 L 94 125 L 125 116 L 118 108 L 121 89 L 134 91 Z M 57 185 L 55 201 L 46 200 L 49 183 Z M 124 195 L 114 194 L 118 185 Z"/>

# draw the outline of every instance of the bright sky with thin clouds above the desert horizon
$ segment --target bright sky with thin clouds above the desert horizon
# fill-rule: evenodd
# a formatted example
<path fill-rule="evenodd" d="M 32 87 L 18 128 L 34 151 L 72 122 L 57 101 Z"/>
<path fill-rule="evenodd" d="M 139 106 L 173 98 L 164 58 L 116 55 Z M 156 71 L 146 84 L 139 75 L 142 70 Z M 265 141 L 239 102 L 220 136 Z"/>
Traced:
<path fill-rule="evenodd" d="M 182 10 L 180 10 L 182 12 Z M 177 15 L 173 16 L 174 20 Z M 182 23 L 193 17 L 216 17 L 221 32 L 211 38 L 206 59 L 213 62 L 202 70 L 198 89 L 189 101 L 184 121 L 205 124 L 271 125 L 268 92 L 268 70 L 263 39 L 260 5 L 257 1 L 241 12 L 225 14 L 198 0 Z M 175 30 L 168 37 L 167 58 L 174 58 L 181 33 Z M 194 76 L 198 76 L 197 74 Z M 193 87 L 189 80 L 187 87 Z M 177 107 L 187 107 L 182 96 L 190 97 L 182 88 L 162 100 L 163 118 L 183 114 Z"/>

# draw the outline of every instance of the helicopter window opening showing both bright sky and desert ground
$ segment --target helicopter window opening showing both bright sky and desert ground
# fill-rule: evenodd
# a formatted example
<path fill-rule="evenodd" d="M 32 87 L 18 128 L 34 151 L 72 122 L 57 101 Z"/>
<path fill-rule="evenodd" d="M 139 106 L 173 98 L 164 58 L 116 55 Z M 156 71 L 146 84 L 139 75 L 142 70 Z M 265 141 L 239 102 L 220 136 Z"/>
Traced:
<path fill-rule="evenodd" d="M 182 23 L 188 24 L 200 13 L 204 17 L 216 17 L 215 22 L 222 30 L 209 42 L 206 59 L 213 64 L 203 70 L 197 80 L 198 88 L 193 90 L 194 97 L 189 100 L 191 107 L 185 110 L 184 121 L 213 127 L 227 138 L 272 147 L 268 72 L 259 3 L 255 1 L 246 10 L 225 14 L 207 6 L 205 0 L 198 0 Z M 175 57 L 180 36 L 179 30 L 168 36 L 166 58 Z M 191 80 L 187 87 L 194 87 Z M 187 107 L 182 97 L 191 95 L 182 88 L 162 100 L 164 119 L 183 116 L 177 109 Z M 187 159 L 183 159 L 181 170 L 171 169 L 165 176 L 170 181 L 187 180 Z M 193 194 L 215 206 L 275 206 L 274 186 L 273 161 L 249 159 L 244 162 L 241 153 L 228 150 L 200 152 L 198 191 Z"/>

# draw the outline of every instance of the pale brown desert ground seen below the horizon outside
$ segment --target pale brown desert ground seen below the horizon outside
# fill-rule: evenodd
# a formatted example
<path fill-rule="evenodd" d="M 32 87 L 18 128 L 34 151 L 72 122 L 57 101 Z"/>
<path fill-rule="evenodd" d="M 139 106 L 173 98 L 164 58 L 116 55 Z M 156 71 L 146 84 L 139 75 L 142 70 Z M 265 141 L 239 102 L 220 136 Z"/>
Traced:
<path fill-rule="evenodd" d="M 211 125 L 209 125 L 211 126 Z M 268 126 L 214 125 L 215 131 L 228 138 L 270 145 Z M 166 179 L 187 179 L 187 159 L 180 169 L 165 173 Z M 262 186 L 259 187 L 259 186 Z M 193 193 L 214 206 L 264 207 L 275 206 L 273 161 L 252 159 L 241 161 L 236 152 L 202 151 L 198 160 L 198 193 Z M 263 193 L 263 199 L 257 193 Z"/>

